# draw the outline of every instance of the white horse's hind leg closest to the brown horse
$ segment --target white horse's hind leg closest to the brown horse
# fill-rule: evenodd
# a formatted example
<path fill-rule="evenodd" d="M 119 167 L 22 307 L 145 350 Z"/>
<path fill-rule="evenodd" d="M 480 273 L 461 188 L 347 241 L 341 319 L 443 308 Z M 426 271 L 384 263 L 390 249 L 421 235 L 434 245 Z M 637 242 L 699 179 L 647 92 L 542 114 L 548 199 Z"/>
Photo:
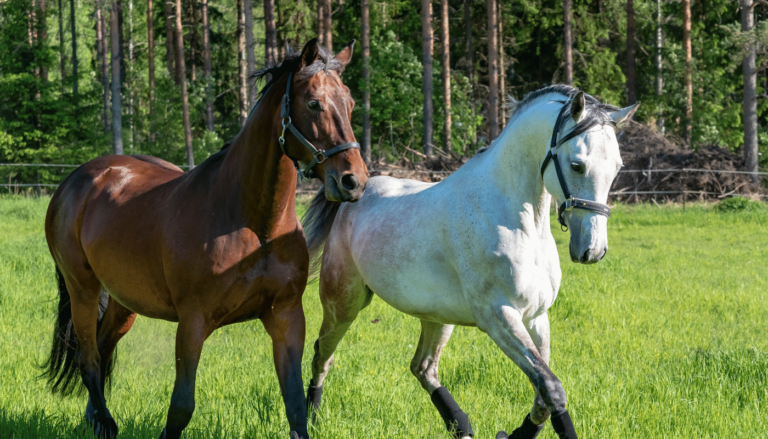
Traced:
<path fill-rule="evenodd" d="M 323 266 L 325 272 L 329 269 Z M 360 311 L 373 299 L 373 291 L 368 288 L 359 274 L 333 276 L 321 275 L 320 301 L 323 305 L 323 323 L 315 341 L 315 355 L 312 358 L 312 380 L 307 389 L 307 406 L 315 420 L 315 413 L 320 408 L 323 395 L 323 382 L 333 366 L 334 352 L 344 335 L 352 326 Z M 327 279 L 332 279 L 328 281 Z"/>

